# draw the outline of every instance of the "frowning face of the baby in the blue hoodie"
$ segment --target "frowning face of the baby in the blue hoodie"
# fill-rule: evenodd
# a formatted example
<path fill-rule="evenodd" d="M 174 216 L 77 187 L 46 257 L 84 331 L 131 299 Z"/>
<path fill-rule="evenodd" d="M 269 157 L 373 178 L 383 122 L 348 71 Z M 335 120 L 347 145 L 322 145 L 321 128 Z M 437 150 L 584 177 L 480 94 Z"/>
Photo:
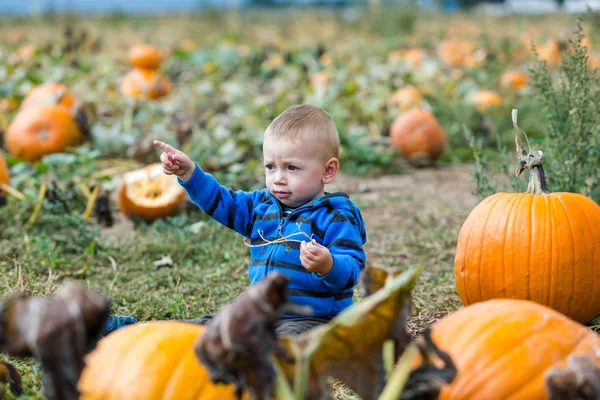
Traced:
<path fill-rule="evenodd" d="M 324 194 L 326 160 L 319 143 L 265 135 L 263 156 L 269 192 L 288 207 Z"/>

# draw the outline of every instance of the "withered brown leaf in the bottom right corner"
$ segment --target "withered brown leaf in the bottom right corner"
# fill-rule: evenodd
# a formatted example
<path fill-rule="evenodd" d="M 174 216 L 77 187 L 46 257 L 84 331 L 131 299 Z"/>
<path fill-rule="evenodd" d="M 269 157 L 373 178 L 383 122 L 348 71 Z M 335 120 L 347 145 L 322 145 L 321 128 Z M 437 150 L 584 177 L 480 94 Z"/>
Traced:
<path fill-rule="evenodd" d="M 567 365 L 546 373 L 549 400 L 600 398 L 600 366 L 585 354 L 572 354 Z"/>

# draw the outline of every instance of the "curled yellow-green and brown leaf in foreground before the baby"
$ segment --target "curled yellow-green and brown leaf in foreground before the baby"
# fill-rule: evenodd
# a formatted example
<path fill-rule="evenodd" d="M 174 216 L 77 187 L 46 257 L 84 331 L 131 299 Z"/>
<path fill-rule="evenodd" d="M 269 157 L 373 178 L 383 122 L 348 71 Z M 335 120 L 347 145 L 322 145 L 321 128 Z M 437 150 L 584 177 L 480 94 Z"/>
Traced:
<path fill-rule="evenodd" d="M 385 383 L 383 343 L 394 340 L 399 354 L 411 340 L 406 318 L 410 291 L 419 272 L 420 268 L 398 274 L 369 267 L 362 280 L 369 286 L 367 292 L 386 282 L 380 290 L 344 310 L 327 325 L 295 338 L 282 337 L 282 346 L 296 359 L 295 366 L 280 363 L 288 380 L 296 380 L 297 388 L 302 386 L 302 360 L 307 360 L 307 398 L 327 396 L 329 377 L 341 380 L 364 400 L 377 398 Z M 303 395 L 296 392 L 297 398 Z"/>

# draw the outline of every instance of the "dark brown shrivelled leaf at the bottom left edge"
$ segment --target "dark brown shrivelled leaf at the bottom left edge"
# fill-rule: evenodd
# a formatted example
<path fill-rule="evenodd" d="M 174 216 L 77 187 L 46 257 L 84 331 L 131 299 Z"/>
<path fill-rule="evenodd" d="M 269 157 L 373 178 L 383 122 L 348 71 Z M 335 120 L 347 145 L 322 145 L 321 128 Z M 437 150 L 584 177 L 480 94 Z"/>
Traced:
<path fill-rule="evenodd" d="M 109 304 L 101 294 L 70 284 L 50 300 L 12 295 L 0 305 L 0 351 L 41 362 L 46 398 L 78 399 L 83 359 L 105 328 Z"/>

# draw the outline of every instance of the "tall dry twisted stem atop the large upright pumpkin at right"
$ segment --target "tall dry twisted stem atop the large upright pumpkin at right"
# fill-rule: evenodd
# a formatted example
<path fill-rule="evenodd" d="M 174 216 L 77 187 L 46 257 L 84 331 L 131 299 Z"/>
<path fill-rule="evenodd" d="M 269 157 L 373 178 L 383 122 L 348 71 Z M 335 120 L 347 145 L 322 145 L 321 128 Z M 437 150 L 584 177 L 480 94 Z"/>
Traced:
<path fill-rule="evenodd" d="M 527 193 L 542 194 L 548 192 L 548 185 L 546 183 L 546 174 L 544 167 L 542 166 L 542 160 L 544 159 L 544 153 L 541 150 L 532 150 L 529 144 L 529 139 L 525 132 L 519 129 L 517 125 L 517 109 L 512 110 L 513 126 L 515 127 L 515 144 L 517 148 L 517 156 L 519 157 L 519 168 L 516 171 L 516 175 L 519 176 L 525 169 L 530 169 L 529 184 L 527 186 Z M 521 133 L 525 136 L 527 142 L 527 150 L 521 140 Z"/>

